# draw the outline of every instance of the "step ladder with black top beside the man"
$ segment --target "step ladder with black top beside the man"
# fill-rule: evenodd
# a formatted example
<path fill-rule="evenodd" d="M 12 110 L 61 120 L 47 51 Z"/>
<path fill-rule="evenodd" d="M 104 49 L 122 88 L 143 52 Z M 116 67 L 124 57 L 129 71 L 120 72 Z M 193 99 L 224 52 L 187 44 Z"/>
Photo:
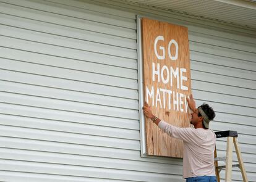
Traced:
<path fill-rule="evenodd" d="M 216 173 L 216 178 L 218 180 L 218 182 L 220 182 L 220 172 L 223 168 L 226 169 L 226 173 L 225 173 L 225 182 L 230 182 L 231 181 L 231 175 L 232 175 L 232 168 L 233 167 L 239 167 L 242 173 L 242 179 L 244 182 L 248 182 L 247 179 L 247 175 L 245 172 L 245 168 L 244 168 L 244 162 L 242 161 L 242 155 L 241 155 L 241 151 L 239 149 L 238 146 L 238 142 L 237 142 L 237 131 L 218 131 L 215 132 L 216 134 L 216 138 L 223 138 L 223 137 L 227 137 L 227 149 L 226 149 L 226 157 L 217 157 L 217 151 L 216 151 L 216 146 L 215 146 L 215 173 Z M 235 146 L 236 149 L 236 155 L 237 155 L 237 160 L 239 162 L 239 164 L 232 164 L 233 163 L 233 144 Z M 226 165 L 218 165 L 218 160 L 224 160 L 226 161 Z"/>

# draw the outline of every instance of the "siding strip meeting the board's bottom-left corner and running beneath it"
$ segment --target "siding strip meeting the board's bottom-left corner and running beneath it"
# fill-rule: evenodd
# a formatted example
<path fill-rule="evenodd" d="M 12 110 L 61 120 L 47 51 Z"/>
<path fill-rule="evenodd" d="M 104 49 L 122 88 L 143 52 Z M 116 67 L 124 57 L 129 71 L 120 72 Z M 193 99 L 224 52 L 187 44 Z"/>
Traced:
<path fill-rule="evenodd" d="M 0 143 L 2 147 L 12 149 L 59 152 L 61 154 L 89 155 L 95 157 L 154 162 L 158 164 L 169 163 L 175 165 L 182 165 L 182 159 L 171 159 L 166 157 L 140 157 L 140 151 L 137 150 L 126 150 L 111 147 L 76 145 L 69 143 L 56 143 L 53 141 L 39 141 L 32 139 L 7 137 L 0 137 Z"/>

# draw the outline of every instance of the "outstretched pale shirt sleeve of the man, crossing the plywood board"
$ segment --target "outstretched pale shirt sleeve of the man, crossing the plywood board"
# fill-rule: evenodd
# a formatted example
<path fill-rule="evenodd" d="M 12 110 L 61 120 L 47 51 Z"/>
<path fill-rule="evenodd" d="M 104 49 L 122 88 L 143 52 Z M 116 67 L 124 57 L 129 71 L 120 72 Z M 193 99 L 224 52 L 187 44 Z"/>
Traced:
<path fill-rule="evenodd" d="M 158 127 L 165 133 L 169 134 L 169 136 L 177 139 L 182 139 L 187 143 L 191 143 L 195 139 L 195 134 L 193 131 L 195 130 L 194 128 L 179 128 L 170 125 L 169 123 L 166 123 L 163 120 L 161 120 L 161 122 L 158 123 Z"/>

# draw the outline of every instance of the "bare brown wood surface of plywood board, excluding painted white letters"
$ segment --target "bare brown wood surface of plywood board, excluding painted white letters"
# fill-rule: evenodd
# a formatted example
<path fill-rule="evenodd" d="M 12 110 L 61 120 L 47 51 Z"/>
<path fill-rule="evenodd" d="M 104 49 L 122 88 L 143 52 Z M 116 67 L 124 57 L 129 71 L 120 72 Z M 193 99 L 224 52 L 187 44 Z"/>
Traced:
<path fill-rule="evenodd" d="M 164 41 L 158 41 L 157 43 L 157 52 L 159 55 L 163 56 L 163 51 L 160 50 L 160 46 L 164 47 L 165 57 L 164 59 L 158 59 L 154 51 L 155 39 L 158 36 L 163 36 Z M 171 39 L 174 39 L 178 46 L 178 57 L 177 60 L 171 60 L 168 56 L 168 44 Z M 147 101 L 147 87 L 151 91 L 151 86 L 154 87 L 154 99 L 148 96 L 148 104 L 151 105 L 153 113 L 158 116 L 161 120 L 164 120 L 171 125 L 179 127 L 189 127 L 189 109 L 186 112 L 185 109 L 185 97 L 182 98 L 184 101 L 183 109 L 184 112 L 174 109 L 173 104 L 173 95 L 171 94 L 171 109 L 168 105 L 168 94 L 165 93 L 165 102 L 163 100 L 164 92 L 160 92 L 161 105 L 160 102 L 156 103 L 156 89 L 168 89 L 173 93 L 184 94 L 189 96 L 191 93 L 191 80 L 190 80 L 190 59 L 189 59 L 189 41 L 188 41 L 188 30 L 186 27 L 172 25 L 166 22 L 159 22 L 157 20 L 150 20 L 147 18 L 142 19 L 142 49 L 143 49 L 143 82 L 144 82 L 144 98 Z M 175 46 L 171 45 L 171 55 L 175 55 Z M 160 80 L 158 82 L 158 76 L 155 75 L 156 80 L 152 79 L 152 63 L 160 64 L 160 70 L 164 65 L 171 70 L 171 67 L 175 68 L 186 68 L 187 72 L 183 73 L 187 77 L 187 81 L 184 81 L 184 86 L 187 86 L 187 90 L 181 89 L 181 86 L 177 83 L 176 78 L 173 80 L 173 85 L 171 86 L 171 79 L 169 78 L 168 83 L 163 83 Z M 161 71 L 160 71 L 161 72 Z M 160 74 L 161 75 L 161 74 Z M 171 74 L 169 73 L 169 76 Z M 179 75 L 180 76 L 180 75 Z M 167 70 L 163 72 L 163 78 L 166 80 L 168 77 Z M 179 80 L 179 82 L 181 82 Z M 177 88 L 179 85 L 179 88 Z M 180 96 L 180 95 L 179 95 Z M 154 102 L 154 105 L 152 103 Z M 165 109 L 164 109 L 164 103 Z M 156 107 L 156 104 L 157 107 Z M 161 155 L 169 157 L 179 157 L 182 158 L 182 141 L 179 139 L 170 138 L 167 134 L 163 133 L 155 124 L 153 124 L 149 119 L 145 119 L 145 128 L 147 134 L 147 153 L 149 155 Z"/>

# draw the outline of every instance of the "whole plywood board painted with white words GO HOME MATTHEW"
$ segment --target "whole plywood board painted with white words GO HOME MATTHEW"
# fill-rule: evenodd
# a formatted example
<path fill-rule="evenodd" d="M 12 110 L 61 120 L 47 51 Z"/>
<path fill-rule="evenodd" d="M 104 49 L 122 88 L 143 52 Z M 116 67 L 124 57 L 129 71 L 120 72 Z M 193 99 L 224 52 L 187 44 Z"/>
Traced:
<path fill-rule="evenodd" d="M 144 99 L 153 113 L 174 126 L 189 127 L 191 93 L 188 30 L 142 18 Z M 145 118 L 147 154 L 182 157 L 182 141 Z"/>

